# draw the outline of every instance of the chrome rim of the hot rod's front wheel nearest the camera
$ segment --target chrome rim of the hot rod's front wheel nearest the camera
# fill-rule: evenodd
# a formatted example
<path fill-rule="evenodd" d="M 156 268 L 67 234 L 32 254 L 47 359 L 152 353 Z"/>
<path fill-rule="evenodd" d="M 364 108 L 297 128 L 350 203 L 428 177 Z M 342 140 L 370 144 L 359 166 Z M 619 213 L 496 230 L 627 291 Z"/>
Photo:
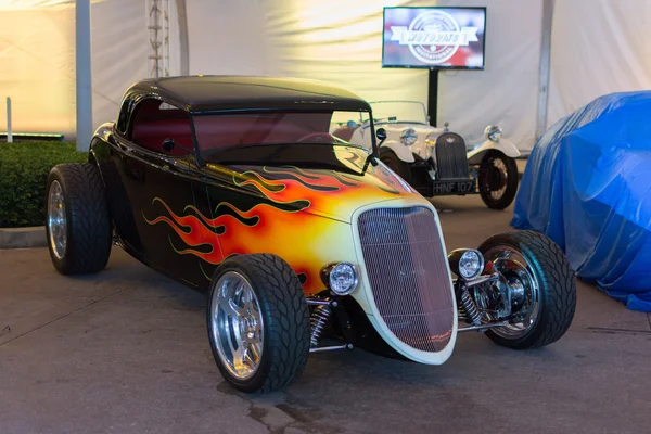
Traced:
<path fill-rule="evenodd" d="M 210 306 L 210 339 L 221 363 L 238 380 L 252 378 L 263 356 L 264 322 L 251 282 L 227 271 L 215 285 Z"/>

